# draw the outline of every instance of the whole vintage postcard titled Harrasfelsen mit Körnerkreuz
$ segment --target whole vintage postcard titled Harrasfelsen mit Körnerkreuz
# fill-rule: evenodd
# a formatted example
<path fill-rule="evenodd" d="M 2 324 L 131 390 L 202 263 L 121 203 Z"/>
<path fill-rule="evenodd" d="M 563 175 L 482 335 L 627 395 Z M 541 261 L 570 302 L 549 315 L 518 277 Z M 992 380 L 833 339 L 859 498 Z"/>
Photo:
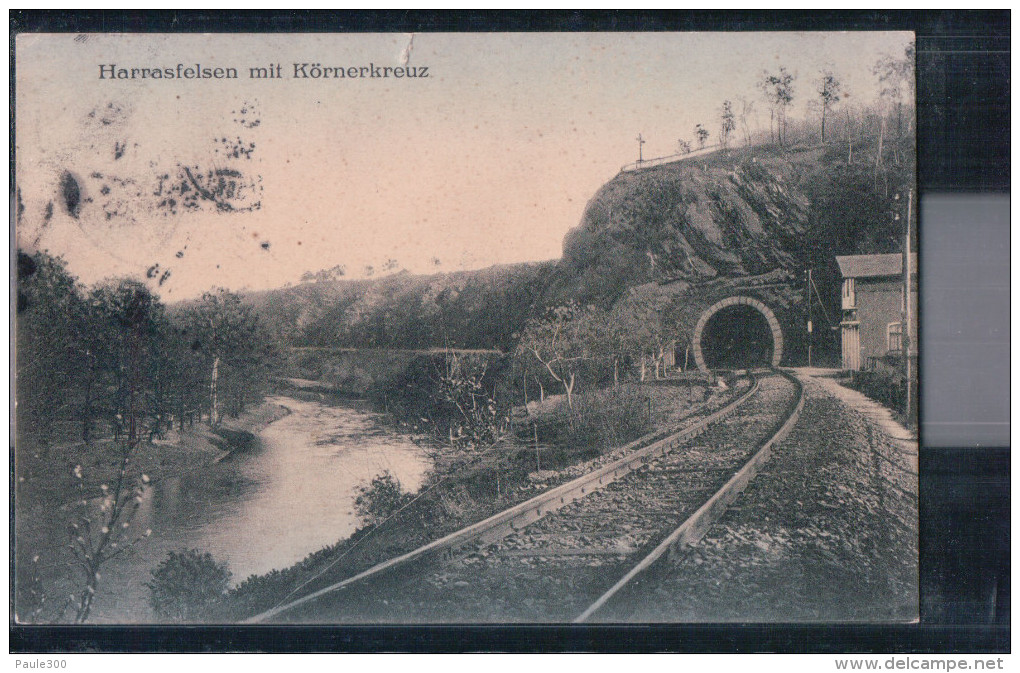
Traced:
<path fill-rule="evenodd" d="M 17 624 L 917 619 L 913 34 L 15 65 Z"/>

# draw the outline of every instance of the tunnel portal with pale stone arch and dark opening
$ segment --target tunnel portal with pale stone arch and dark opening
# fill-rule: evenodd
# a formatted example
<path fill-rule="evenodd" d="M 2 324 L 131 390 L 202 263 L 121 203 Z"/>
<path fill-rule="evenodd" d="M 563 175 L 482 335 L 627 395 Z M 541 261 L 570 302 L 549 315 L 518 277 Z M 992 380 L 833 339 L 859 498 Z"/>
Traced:
<path fill-rule="evenodd" d="M 724 299 L 702 313 L 692 341 L 702 371 L 777 367 L 782 359 L 779 321 L 750 297 Z"/>

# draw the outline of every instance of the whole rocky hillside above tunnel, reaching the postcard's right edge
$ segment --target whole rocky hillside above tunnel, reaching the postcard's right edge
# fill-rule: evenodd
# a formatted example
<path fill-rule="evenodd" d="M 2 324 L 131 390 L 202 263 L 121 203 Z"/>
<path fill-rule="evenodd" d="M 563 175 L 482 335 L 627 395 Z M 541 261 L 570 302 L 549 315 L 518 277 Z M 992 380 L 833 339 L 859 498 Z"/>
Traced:
<path fill-rule="evenodd" d="M 621 172 L 567 235 L 549 302 L 608 306 L 648 282 L 799 278 L 807 268 L 834 301 L 836 255 L 902 250 L 913 141 L 886 139 L 881 160 L 876 152 L 877 139 L 859 138 L 852 155 L 837 143 L 740 148 Z"/>

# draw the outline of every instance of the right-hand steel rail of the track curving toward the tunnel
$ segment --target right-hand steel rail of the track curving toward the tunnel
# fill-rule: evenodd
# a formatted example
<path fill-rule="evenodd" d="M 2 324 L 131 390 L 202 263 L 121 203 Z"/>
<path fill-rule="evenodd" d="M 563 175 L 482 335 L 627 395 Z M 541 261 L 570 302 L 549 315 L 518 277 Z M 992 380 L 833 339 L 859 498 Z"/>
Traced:
<path fill-rule="evenodd" d="M 798 419 L 801 417 L 801 411 L 804 409 L 803 383 L 785 371 L 777 371 L 780 375 L 793 382 L 797 390 L 795 402 L 792 403 L 786 419 L 782 422 L 779 428 L 760 446 L 754 456 L 752 456 L 751 459 L 745 463 L 744 466 L 737 470 L 736 473 L 733 474 L 733 476 L 730 477 L 721 488 L 719 488 L 719 490 L 715 493 L 715 495 L 706 501 L 697 512 L 687 517 L 687 519 L 675 530 L 673 530 L 673 532 L 667 535 L 666 538 L 663 539 L 654 550 L 652 550 L 648 556 L 642 559 L 638 565 L 627 572 L 627 574 L 613 584 L 608 591 L 599 597 L 595 603 L 578 615 L 573 620 L 573 623 L 579 624 L 588 621 L 592 615 L 605 606 L 620 591 L 620 589 L 633 581 L 633 579 L 643 572 L 651 568 L 652 565 L 662 558 L 663 555 L 666 555 L 667 559 L 672 558 L 683 547 L 698 542 L 705 536 L 705 533 L 707 533 L 709 528 L 712 527 L 712 524 L 722 517 L 726 508 L 728 508 L 733 501 L 736 500 L 736 497 L 744 491 L 744 489 L 751 482 L 751 479 L 753 479 L 755 475 L 761 471 L 765 463 L 767 463 L 769 458 L 772 457 L 772 450 L 775 448 L 775 445 L 789 434 L 789 431 L 794 428 L 794 425 L 797 424 Z"/>

